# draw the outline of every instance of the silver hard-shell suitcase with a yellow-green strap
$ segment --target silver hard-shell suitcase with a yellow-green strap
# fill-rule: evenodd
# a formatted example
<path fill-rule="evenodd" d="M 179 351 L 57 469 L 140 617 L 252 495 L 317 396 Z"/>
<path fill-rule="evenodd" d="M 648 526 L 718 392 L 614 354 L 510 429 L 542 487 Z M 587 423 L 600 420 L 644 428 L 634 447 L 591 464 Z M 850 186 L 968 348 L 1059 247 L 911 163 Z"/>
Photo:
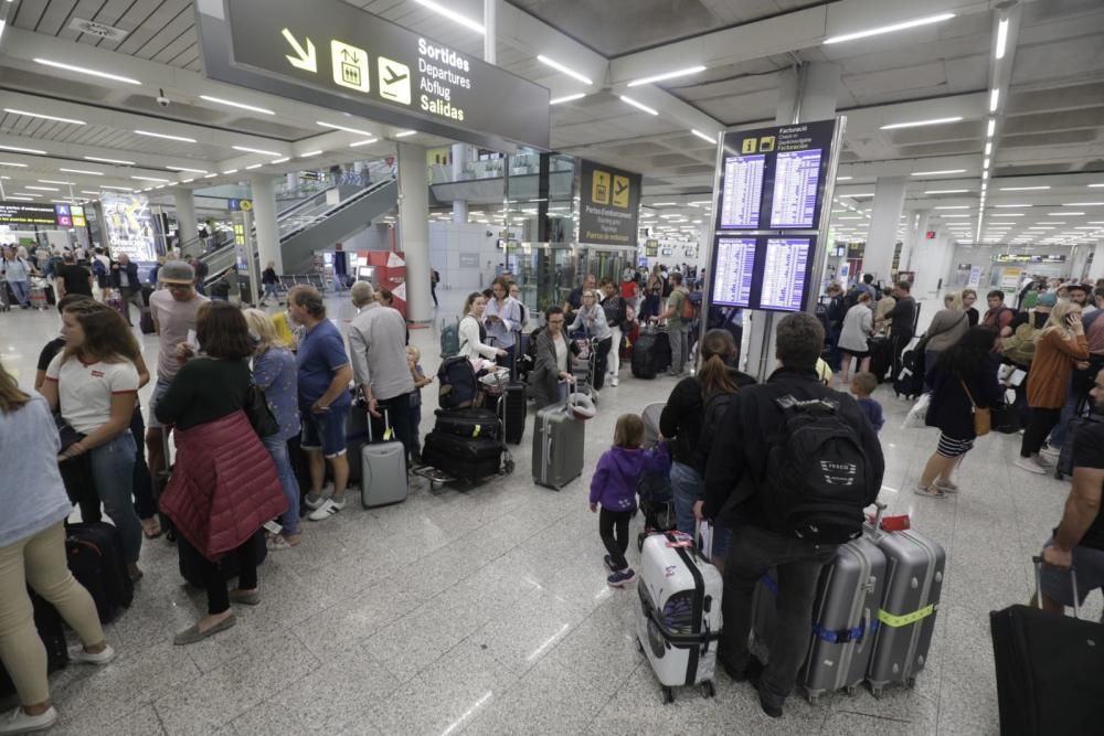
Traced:
<path fill-rule="evenodd" d="M 927 663 L 947 555 L 916 530 L 867 533 L 885 555 L 885 595 L 878 611 L 867 681 L 874 696 L 895 682 L 911 685 Z"/>

